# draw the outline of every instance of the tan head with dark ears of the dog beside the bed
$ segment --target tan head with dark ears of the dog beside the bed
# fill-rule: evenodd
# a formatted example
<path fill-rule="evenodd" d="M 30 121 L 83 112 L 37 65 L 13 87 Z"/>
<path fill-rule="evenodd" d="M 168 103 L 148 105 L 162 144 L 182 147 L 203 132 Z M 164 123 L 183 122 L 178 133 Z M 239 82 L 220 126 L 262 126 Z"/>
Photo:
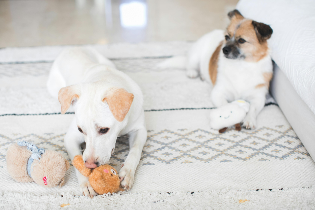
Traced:
<path fill-rule="evenodd" d="M 266 40 L 272 35 L 270 26 L 246 19 L 238 10 L 229 12 L 228 16 L 231 22 L 226 29 L 224 47 L 230 52 L 225 54 L 226 58 L 257 62 L 268 55 Z"/>

